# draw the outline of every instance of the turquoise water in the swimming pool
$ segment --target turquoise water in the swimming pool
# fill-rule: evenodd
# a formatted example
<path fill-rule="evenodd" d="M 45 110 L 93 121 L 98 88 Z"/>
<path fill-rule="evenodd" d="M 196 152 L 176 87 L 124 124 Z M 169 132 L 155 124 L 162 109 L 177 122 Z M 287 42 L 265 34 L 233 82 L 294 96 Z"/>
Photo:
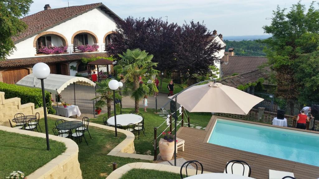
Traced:
<path fill-rule="evenodd" d="M 218 119 L 208 142 L 319 167 L 319 134 Z"/>

